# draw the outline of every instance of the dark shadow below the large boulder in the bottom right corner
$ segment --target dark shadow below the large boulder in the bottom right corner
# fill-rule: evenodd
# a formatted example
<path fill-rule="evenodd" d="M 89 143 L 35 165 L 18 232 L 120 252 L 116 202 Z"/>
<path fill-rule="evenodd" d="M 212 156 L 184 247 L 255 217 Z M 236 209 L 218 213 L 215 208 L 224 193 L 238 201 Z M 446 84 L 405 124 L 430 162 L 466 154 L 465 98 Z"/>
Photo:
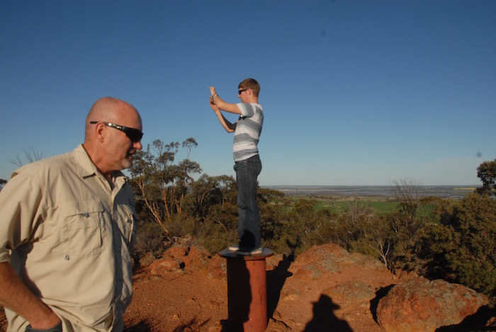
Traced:
<path fill-rule="evenodd" d="M 460 324 L 441 326 L 436 329 L 436 332 L 473 331 L 496 331 L 496 307 L 487 305 L 480 307 L 475 314 L 466 316 Z"/>

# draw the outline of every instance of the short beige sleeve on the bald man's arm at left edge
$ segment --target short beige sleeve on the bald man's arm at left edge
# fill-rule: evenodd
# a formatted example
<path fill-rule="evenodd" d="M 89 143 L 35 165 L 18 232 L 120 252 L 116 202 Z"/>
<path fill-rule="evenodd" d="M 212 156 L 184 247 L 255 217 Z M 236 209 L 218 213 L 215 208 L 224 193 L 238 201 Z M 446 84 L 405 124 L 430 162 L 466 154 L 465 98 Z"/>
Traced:
<path fill-rule="evenodd" d="M 41 189 L 30 175 L 17 174 L 0 191 L 0 262 L 32 238 L 40 212 Z"/>

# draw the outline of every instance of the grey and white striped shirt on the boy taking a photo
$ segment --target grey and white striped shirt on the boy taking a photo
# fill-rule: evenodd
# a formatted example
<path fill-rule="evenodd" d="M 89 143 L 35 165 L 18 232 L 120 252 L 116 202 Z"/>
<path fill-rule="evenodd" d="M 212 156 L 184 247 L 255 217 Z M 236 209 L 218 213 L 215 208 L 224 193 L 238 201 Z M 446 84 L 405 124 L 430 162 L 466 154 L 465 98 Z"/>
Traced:
<path fill-rule="evenodd" d="M 260 104 L 238 103 L 241 116 L 236 122 L 232 152 L 235 161 L 242 161 L 259 154 L 257 144 L 264 124 L 264 113 Z"/>

